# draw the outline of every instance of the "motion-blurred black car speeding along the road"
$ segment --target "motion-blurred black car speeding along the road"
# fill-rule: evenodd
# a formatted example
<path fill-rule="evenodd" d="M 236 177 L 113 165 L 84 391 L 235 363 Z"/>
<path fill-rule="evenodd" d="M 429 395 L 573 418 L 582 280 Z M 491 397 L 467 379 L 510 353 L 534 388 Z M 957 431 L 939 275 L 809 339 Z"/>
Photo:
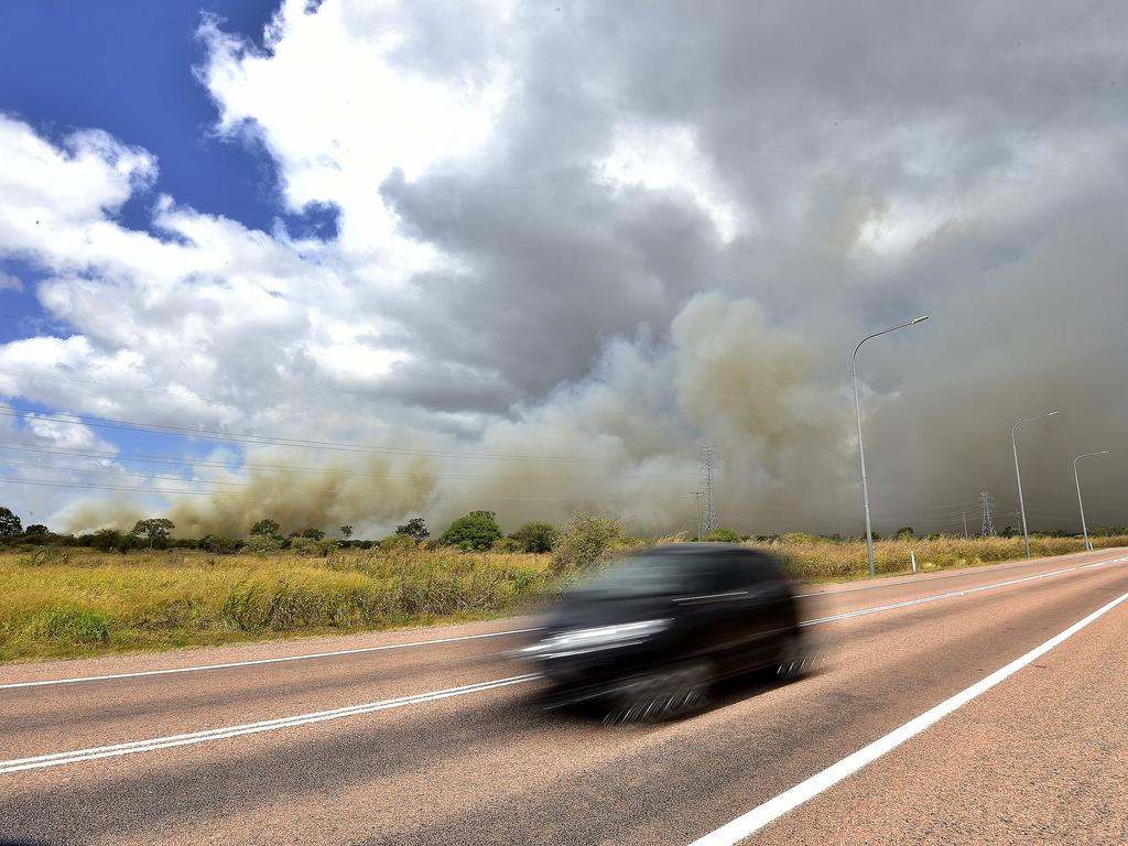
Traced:
<path fill-rule="evenodd" d="M 704 707 L 714 684 L 809 666 L 792 583 L 770 555 L 675 544 L 625 557 L 566 592 L 520 650 L 545 676 L 549 706 L 598 704 L 608 722 Z"/>

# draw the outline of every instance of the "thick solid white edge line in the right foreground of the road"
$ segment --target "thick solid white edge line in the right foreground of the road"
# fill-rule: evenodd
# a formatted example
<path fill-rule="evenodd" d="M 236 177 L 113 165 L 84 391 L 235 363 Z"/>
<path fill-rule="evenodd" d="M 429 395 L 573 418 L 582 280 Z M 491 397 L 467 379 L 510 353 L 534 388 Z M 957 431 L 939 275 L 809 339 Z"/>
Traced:
<path fill-rule="evenodd" d="M 739 843 L 746 837 L 756 834 L 773 820 L 778 819 L 788 811 L 792 811 L 804 802 L 813 799 L 828 787 L 838 784 L 838 782 L 853 775 L 857 770 L 862 769 L 862 767 L 867 764 L 872 764 L 874 760 L 896 749 L 905 741 L 916 737 L 931 725 L 934 725 L 957 708 L 967 705 L 977 696 L 990 690 L 993 687 L 1013 676 L 1026 664 L 1045 655 L 1067 637 L 1073 636 L 1093 620 L 1111 611 L 1125 600 L 1128 600 L 1128 593 L 1122 593 L 1108 605 L 1098 608 L 1084 619 L 1077 620 L 1060 634 L 1057 634 L 1046 641 L 1046 643 L 1040 646 L 1036 646 L 1026 654 L 1015 659 L 1006 667 L 996 670 L 987 678 L 977 681 L 971 687 L 961 690 L 948 699 L 944 699 L 944 702 L 940 703 L 940 705 L 929 708 L 925 713 L 920 714 L 920 716 L 910 720 L 899 729 L 895 729 L 883 738 L 879 738 L 869 746 L 858 749 L 853 755 L 843 758 L 837 764 L 827 767 L 821 773 L 817 773 L 807 781 L 800 782 L 791 790 L 784 791 L 775 799 L 770 799 L 764 804 L 754 808 L 751 811 L 742 817 L 738 817 L 732 822 L 729 822 L 715 831 L 694 840 L 690 846 L 731 846 L 731 844 Z"/>

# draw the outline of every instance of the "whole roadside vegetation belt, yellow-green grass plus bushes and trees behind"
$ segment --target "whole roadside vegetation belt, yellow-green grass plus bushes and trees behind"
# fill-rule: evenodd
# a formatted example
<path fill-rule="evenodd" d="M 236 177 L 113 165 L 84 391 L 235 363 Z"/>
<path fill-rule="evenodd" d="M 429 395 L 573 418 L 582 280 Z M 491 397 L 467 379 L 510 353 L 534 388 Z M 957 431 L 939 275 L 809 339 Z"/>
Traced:
<path fill-rule="evenodd" d="M 682 532 L 632 538 L 607 515 L 578 513 L 561 526 L 534 522 L 504 535 L 475 511 L 438 539 L 414 518 L 380 540 L 318 529 L 283 534 L 263 518 L 245 538 L 174 538 L 175 526 L 142 520 L 133 531 L 55 535 L 26 529 L 0 509 L 0 662 L 164 650 L 273 637 L 423 626 L 530 610 L 546 594 L 632 548 L 684 543 Z M 858 539 L 781 535 L 708 540 L 779 555 L 804 581 L 867 575 Z M 1128 531 L 1096 535 L 1128 545 Z M 1031 537 L 1034 555 L 1081 552 L 1079 538 Z M 882 574 L 1021 558 L 1021 537 L 928 536 L 911 529 L 874 544 Z"/>

